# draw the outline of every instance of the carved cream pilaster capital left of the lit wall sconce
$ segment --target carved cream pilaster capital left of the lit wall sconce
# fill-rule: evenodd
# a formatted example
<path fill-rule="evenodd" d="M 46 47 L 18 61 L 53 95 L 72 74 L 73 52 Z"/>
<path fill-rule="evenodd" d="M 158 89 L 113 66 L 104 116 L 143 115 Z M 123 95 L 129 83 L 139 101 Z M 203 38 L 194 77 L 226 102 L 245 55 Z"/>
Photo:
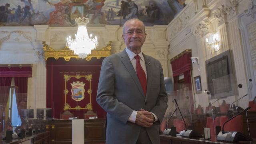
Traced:
<path fill-rule="evenodd" d="M 205 34 L 211 32 L 210 29 L 211 22 L 209 20 L 202 20 L 197 26 L 193 29 L 193 34 L 196 36 L 204 36 Z"/>

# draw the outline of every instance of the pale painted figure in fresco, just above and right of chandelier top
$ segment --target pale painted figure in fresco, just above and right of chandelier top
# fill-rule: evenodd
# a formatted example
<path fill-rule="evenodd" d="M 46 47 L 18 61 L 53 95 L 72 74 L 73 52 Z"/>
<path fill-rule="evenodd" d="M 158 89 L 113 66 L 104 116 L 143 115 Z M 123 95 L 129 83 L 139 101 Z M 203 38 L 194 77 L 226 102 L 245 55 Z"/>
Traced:
<path fill-rule="evenodd" d="M 96 0 L 88 0 L 85 3 L 86 11 L 88 11 L 90 14 L 93 14 L 92 18 L 90 19 L 90 24 L 94 24 L 94 20 L 98 16 L 98 14 L 101 15 L 101 19 L 102 19 L 102 16 L 104 15 L 104 13 L 100 12 L 101 8 L 97 9 L 97 6 L 103 6 L 104 2 L 105 0 L 102 0 L 102 2 L 96 2 Z"/>

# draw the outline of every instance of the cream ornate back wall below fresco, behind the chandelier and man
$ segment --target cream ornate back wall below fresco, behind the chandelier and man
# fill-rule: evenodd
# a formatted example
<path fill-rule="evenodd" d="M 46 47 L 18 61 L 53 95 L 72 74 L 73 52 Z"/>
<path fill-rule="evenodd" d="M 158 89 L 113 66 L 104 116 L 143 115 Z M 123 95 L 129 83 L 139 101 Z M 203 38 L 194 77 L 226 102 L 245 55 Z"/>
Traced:
<path fill-rule="evenodd" d="M 77 27 L 0 27 L 0 64 L 33 64 L 32 78 L 28 79 L 28 108 L 46 107 L 46 68 L 42 41 L 54 49 L 63 49 L 66 37 L 74 36 Z M 98 37 L 99 47 L 112 41 L 112 53 L 125 48 L 122 27 L 88 27 L 88 32 Z M 168 76 L 166 26 L 146 27 L 147 38 L 142 51 L 160 60 L 164 76 Z"/>

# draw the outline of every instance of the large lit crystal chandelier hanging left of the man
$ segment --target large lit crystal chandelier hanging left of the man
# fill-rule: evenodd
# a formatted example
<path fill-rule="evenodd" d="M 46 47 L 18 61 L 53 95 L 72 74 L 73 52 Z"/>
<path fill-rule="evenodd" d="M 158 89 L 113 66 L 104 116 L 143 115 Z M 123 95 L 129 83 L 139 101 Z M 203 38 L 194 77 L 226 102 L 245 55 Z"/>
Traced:
<path fill-rule="evenodd" d="M 66 46 L 70 50 L 74 51 L 74 54 L 78 55 L 79 58 L 86 58 L 89 54 L 92 53 L 98 46 L 98 39 L 88 36 L 86 29 L 86 24 L 89 23 L 89 19 L 85 17 L 79 17 L 75 19 L 76 24 L 78 25 L 77 34 L 75 34 L 75 39 L 71 39 L 71 36 L 68 36 Z"/>

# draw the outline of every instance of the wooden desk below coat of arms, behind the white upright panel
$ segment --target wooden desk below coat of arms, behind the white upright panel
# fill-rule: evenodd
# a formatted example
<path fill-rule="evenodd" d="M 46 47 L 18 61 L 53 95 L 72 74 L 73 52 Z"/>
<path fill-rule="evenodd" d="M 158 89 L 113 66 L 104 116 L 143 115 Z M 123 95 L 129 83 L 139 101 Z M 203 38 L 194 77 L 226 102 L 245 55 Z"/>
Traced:
<path fill-rule="evenodd" d="M 105 143 L 105 119 L 84 120 L 84 143 Z M 49 120 L 50 144 L 72 143 L 72 120 Z"/>

